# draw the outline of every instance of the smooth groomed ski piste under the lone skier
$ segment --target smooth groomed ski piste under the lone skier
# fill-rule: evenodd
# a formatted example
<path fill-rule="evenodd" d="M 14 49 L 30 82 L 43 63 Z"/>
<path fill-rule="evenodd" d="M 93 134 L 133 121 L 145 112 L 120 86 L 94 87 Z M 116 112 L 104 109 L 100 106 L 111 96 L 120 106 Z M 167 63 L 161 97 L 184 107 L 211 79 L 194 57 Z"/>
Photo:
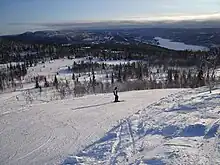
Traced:
<path fill-rule="evenodd" d="M 120 103 L 112 103 L 112 94 L 52 102 L 44 102 L 39 95 L 38 101 L 32 104 L 22 99 L 25 91 L 0 95 L 0 164 L 66 163 L 68 155 L 76 155 L 88 145 L 96 144 L 106 132 L 118 125 L 117 121 L 179 91 L 182 90 L 124 92 L 120 93 L 124 100 Z M 121 132 L 124 131 L 122 128 Z M 107 142 L 111 139 L 106 139 Z M 119 152 L 119 144 L 114 143 L 114 152 Z M 92 146 L 88 150 L 92 152 Z M 94 156 L 97 155 L 95 152 L 94 149 Z M 103 149 L 100 152 L 106 153 Z M 116 156 L 114 152 L 112 157 Z M 90 157 L 84 155 L 83 158 L 86 164 L 91 164 Z M 103 160 L 104 164 L 107 161 L 107 158 Z"/>

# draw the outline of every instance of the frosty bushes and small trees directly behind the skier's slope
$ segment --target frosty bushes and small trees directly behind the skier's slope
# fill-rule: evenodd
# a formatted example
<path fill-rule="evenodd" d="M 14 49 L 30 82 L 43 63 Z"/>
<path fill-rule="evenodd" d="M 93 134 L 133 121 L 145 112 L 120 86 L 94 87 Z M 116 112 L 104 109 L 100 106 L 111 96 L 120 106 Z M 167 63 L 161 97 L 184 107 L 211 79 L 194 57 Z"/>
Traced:
<path fill-rule="evenodd" d="M 206 79 L 200 79 L 197 74 L 192 77 L 188 77 L 185 79 L 185 83 L 183 83 L 183 77 L 178 77 L 174 75 L 171 81 L 166 81 L 164 83 L 157 82 L 155 80 L 138 80 L 135 79 L 133 81 L 122 81 L 119 82 L 111 81 L 111 82 L 99 82 L 96 81 L 95 76 L 92 76 L 90 81 L 80 82 L 75 80 L 65 80 L 60 81 L 55 76 L 54 80 L 48 87 L 52 87 L 55 89 L 54 98 L 51 99 L 64 99 L 69 96 L 80 97 L 87 94 L 98 94 L 98 93 L 111 93 L 115 86 L 118 87 L 120 92 L 123 91 L 132 91 L 132 90 L 147 90 L 147 89 L 165 89 L 165 88 L 182 88 L 181 85 L 185 85 L 185 87 L 199 87 L 202 86 L 202 83 L 205 82 Z M 46 84 L 46 81 L 45 81 Z M 41 92 L 44 92 L 43 87 L 38 87 Z M 49 93 L 46 93 L 49 94 Z"/>

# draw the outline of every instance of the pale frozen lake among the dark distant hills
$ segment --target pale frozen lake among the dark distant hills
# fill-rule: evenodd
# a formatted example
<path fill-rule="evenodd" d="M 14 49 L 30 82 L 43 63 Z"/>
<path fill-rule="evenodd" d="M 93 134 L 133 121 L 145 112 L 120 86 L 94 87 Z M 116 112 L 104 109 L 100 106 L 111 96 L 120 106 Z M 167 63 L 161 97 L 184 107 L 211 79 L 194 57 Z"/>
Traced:
<path fill-rule="evenodd" d="M 192 51 L 207 51 L 208 48 L 204 46 L 197 45 L 187 45 L 182 42 L 172 42 L 169 39 L 164 39 L 161 37 L 155 37 L 154 39 L 158 40 L 159 46 L 173 49 L 173 50 L 192 50 Z"/>

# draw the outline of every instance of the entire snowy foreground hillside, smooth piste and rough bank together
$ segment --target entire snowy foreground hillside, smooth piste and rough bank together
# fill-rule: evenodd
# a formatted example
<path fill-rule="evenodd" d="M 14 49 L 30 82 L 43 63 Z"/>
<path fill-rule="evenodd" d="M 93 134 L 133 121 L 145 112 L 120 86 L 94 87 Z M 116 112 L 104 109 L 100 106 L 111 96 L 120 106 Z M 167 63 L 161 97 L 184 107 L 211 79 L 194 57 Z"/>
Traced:
<path fill-rule="evenodd" d="M 0 164 L 220 164 L 220 90 L 132 91 L 44 101 L 0 95 Z M 36 97 L 36 98 L 35 98 Z"/>

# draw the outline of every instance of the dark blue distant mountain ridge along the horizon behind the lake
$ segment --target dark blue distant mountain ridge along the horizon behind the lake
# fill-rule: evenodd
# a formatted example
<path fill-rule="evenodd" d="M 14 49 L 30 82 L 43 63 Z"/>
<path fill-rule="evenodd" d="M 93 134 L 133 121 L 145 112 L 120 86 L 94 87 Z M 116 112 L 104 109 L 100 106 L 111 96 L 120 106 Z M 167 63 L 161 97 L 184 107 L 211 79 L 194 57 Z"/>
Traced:
<path fill-rule="evenodd" d="M 185 44 L 210 47 L 220 45 L 220 28 L 85 28 L 45 30 L 2 36 L 28 43 L 155 43 L 154 37 L 162 37 Z"/>

